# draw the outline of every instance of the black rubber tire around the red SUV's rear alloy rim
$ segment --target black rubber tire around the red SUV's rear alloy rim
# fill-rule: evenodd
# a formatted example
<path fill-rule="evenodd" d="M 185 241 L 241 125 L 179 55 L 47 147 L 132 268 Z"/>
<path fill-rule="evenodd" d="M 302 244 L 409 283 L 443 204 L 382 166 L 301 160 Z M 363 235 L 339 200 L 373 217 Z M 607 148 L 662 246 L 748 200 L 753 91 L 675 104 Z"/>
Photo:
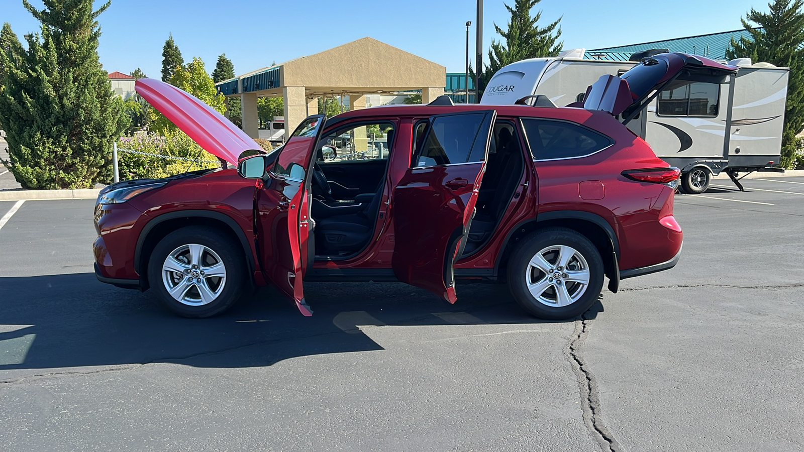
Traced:
<path fill-rule="evenodd" d="M 584 269 L 588 269 L 589 280 L 585 288 L 582 287 L 583 284 L 580 282 L 564 281 L 563 278 L 567 277 L 567 273 L 564 273 L 566 269 L 562 268 L 558 272 L 561 275 L 560 281 L 556 281 L 559 281 L 560 286 L 564 286 L 565 293 L 570 299 L 576 295 L 578 298 L 566 306 L 558 306 L 559 286 L 548 285 L 548 289 L 539 296 L 543 299 L 546 298 L 545 302 L 551 301 L 550 297 L 552 296 L 556 301 L 556 306 L 552 306 L 549 303 L 540 302 L 528 289 L 528 284 L 530 283 L 543 281 L 544 284 L 547 284 L 544 281 L 552 276 L 547 272 L 541 272 L 539 269 L 531 267 L 530 262 L 537 253 L 561 245 L 572 248 L 572 259 L 568 261 L 567 266 L 572 266 L 572 270 L 577 270 L 580 273 L 584 273 Z M 542 256 L 547 256 L 545 261 L 555 269 L 558 269 L 558 255 L 554 253 L 559 253 L 559 251 L 547 251 Z M 577 257 L 578 254 L 580 254 L 580 259 Z M 552 261 L 554 256 L 556 260 Z M 541 276 L 543 273 L 544 277 Z M 597 251 L 597 248 L 589 239 L 568 228 L 544 228 L 523 238 L 514 253 L 511 254 L 511 259 L 508 261 L 508 288 L 519 306 L 522 306 L 524 310 L 535 315 L 535 317 L 547 320 L 565 320 L 580 316 L 597 301 L 603 288 L 604 273 L 600 252 Z"/>

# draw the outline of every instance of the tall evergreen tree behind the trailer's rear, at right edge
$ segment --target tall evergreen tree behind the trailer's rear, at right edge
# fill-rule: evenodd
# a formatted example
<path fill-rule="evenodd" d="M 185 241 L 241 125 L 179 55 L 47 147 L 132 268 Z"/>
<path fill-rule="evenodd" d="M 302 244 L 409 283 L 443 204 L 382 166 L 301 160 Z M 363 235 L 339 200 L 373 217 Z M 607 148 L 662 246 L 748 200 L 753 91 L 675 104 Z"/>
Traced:
<path fill-rule="evenodd" d="M 790 68 L 787 84 L 785 125 L 781 138 L 781 166 L 791 168 L 795 161 L 796 134 L 804 128 L 804 12 L 802 0 L 774 0 L 769 14 L 751 8 L 740 22 L 750 38 L 732 39 L 726 51 L 729 60 L 748 57 Z M 756 23 L 761 28 L 754 28 Z"/>

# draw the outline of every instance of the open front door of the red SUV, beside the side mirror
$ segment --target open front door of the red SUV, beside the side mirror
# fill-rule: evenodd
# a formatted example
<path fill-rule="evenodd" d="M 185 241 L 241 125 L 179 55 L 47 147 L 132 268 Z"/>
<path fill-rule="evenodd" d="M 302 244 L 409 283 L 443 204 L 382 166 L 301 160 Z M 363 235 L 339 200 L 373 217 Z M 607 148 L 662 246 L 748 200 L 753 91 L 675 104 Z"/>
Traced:
<path fill-rule="evenodd" d="M 304 299 L 301 278 L 307 262 L 310 220 L 310 167 L 324 116 L 307 117 L 290 136 L 273 166 L 264 187 L 256 190 L 257 249 L 265 278 L 284 292 L 301 311 L 313 310 Z"/>

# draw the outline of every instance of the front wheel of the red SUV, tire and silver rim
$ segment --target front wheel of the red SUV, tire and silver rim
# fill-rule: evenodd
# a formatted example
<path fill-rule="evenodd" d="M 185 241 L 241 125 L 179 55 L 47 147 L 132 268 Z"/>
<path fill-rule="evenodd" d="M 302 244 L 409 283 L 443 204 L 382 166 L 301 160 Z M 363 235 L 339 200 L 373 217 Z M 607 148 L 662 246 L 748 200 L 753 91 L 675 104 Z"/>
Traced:
<path fill-rule="evenodd" d="M 183 317 L 219 314 L 246 283 L 243 253 L 228 236 L 190 226 L 170 232 L 151 253 L 148 281 L 162 305 Z"/>

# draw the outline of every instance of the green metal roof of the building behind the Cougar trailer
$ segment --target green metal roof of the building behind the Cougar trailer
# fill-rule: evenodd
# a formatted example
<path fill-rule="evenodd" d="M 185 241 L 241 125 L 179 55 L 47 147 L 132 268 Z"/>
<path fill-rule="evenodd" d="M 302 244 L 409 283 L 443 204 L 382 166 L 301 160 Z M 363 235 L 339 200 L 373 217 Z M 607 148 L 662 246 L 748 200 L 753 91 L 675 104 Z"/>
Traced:
<path fill-rule="evenodd" d="M 651 41 L 650 43 L 638 43 L 620 47 L 604 47 L 586 51 L 586 60 L 618 60 L 627 61 L 628 57 L 638 51 L 650 50 L 654 48 L 666 48 L 669 51 L 681 51 L 692 55 L 706 56 L 712 60 L 725 60 L 726 49 L 730 47 L 732 38 L 749 38 L 750 34 L 745 29 L 722 31 L 709 35 L 688 36 L 686 38 L 667 39 L 664 41 Z M 628 54 L 625 58 L 623 55 Z M 596 57 L 594 55 L 601 55 Z"/>

